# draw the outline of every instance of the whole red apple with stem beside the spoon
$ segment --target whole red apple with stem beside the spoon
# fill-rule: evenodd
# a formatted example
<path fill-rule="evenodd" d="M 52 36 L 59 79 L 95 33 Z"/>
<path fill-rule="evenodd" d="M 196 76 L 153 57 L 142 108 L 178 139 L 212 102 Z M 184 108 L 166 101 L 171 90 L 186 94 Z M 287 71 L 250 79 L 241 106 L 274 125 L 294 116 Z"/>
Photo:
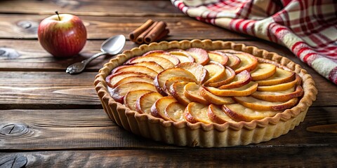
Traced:
<path fill-rule="evenodd" d="M 56 14 L 40 22 L 39 42 L 54 57 L 77 55 L 86 44 L 86 27 L 75 15 Z"/>

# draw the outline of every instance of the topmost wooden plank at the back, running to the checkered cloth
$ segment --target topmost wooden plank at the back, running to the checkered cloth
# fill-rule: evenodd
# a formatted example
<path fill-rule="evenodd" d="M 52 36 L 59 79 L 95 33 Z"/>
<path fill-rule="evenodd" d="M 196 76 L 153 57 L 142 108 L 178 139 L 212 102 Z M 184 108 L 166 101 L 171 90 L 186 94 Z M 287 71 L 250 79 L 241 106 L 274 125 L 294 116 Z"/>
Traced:
<path fill-rule="evenodd" d="M 55 10 L 75 15 L 183 15 L 180 10 L 172 5 L 171 1 L 0 1 L 0 13 L 40 15 L 53 14 Z"/>

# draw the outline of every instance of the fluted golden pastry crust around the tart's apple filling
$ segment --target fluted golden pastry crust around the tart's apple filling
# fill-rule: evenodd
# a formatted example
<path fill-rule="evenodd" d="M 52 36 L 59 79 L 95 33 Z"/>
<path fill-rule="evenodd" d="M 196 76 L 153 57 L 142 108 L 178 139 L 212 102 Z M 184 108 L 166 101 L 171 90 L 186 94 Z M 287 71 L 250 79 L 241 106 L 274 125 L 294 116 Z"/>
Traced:
<path fill-rule="evenodd" d="M 143 53 L 150 50 L 170 50 L 176 48 L 184 50 L 187 48 L 204 48 L 205 50 L 232 49 L 248 52 L 256 57 L 263 58 L 263 60 L 272 60 L 273 62 L 277 62 L 279 66 L 283 66 L 284 69 L 290 69 L 300 76 L 303 81 L 303 97 L 296 106 L 286 109 L 282 113 L 277 113 L 275 116 L 266 117 L 261 120 L 251 120 L 250 122 L 240 121 L 237 123 L 224 123 L 222 125 L 201 122 L 192 124 L 187 121 L 173 122 L 171 120 L 163 120 L 145 113 L 131 111 L 123 104 L 117 103 L 112 99 L 105 82 L 105 78 L 110 74 L 112 69 L 120 66 L 131 57 L 143 55 Z M 265 62 L 268 62 L 268 60 L 265 60 Z M 312 77 L 305 69 L 291 62 L 290 59 L 253 46 L 211 40 L 162 41 L 126 50 L 123 54 L 111 59 L 110 62 L 100 69 L 98 75 L 95 77 L 94 85 L 107 115 L 114 123 L 124 127 L 124 129 L 155 141 L 164 141 L 167 144 L 207 148 L 257 144 L 286 134 L 304 120 L 308 108 L 315 101 L 317 94 Z"/>

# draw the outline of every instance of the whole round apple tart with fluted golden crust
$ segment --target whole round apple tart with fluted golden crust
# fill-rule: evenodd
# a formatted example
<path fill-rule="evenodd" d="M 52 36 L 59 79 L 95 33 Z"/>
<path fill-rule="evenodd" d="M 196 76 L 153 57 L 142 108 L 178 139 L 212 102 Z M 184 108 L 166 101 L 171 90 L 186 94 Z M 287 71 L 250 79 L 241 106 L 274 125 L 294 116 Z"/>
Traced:
<path fill-rule="evenodd" d="M 95 90 L 114 123 L 178 146 L 257 144 L 286 134 L 316 99 L 312 77 L 273 52 L 243 44 L 162 41 L 117 55 Z"/>

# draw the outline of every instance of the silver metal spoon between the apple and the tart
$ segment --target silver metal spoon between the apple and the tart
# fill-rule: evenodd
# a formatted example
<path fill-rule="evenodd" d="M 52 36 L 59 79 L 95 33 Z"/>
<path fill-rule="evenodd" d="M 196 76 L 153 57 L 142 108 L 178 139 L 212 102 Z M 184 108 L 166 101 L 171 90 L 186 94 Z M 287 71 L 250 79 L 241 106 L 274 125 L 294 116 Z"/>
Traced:
<path fill-rule="evenodd" d="M 117 36 L 112 36 L 107 38 L 102 45 L 100 46 L 99 52 L 88 59 L 84 59 L 81 62 L 76 62 L 67 67 L 65 72 L 70 74 L 81 73 L 86 68 L 86 65 L 89 64 L 93 59 L 100 57 L 101 55 L 117 55 L 121 49 L 124 48 L 125 36 L 119 34 Z"/>

